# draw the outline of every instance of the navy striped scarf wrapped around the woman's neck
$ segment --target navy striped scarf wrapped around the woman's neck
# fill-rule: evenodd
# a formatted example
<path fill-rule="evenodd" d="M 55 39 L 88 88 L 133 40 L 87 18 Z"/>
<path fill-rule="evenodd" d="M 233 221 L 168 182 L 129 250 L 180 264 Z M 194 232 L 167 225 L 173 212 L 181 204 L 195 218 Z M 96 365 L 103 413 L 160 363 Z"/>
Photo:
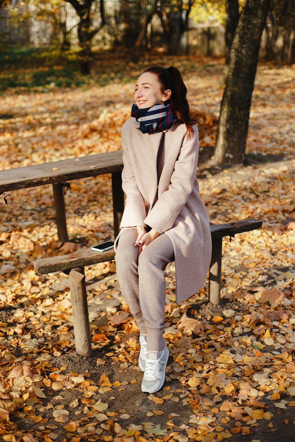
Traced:
<path fill-rule="evenodd" d="M 134 104 L 131 110 L 131 117 L 140 123 L 139 130 L 142 133 L 156 132 L 157 130 L 166 130 L 177 121 L 176 114 L 170 110 L 171 103 L 156 104 L 152 107 L 138 109 Z"/>

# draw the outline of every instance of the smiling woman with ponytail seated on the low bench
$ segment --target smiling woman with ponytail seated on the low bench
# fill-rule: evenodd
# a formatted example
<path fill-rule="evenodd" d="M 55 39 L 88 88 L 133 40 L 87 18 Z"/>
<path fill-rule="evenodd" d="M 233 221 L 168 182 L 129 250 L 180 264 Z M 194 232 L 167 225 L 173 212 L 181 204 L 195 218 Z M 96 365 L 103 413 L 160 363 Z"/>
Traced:
<path fill-rule="evenodd" d="M 208 214 L 199 196 L 195 114 L 178 69 L 146 69 L 122 127 L 126 205 L 115 239 L 122 296 L 138 325 L 143 392 L 165 381 L 165 267 L 175 260 L 176 302 L 202 286 L 211 260 Z"/>

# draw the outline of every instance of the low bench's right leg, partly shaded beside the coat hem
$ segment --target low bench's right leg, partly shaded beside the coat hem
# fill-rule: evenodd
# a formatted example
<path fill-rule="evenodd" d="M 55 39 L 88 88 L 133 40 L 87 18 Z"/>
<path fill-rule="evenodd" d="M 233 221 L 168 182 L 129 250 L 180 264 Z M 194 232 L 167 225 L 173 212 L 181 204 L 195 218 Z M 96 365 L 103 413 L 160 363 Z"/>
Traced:
<path fill-rule="evenodd" d="M 220 304 L 222 238 L 212 240 L 212 256 L 209 267 L 209 302 Z"/>

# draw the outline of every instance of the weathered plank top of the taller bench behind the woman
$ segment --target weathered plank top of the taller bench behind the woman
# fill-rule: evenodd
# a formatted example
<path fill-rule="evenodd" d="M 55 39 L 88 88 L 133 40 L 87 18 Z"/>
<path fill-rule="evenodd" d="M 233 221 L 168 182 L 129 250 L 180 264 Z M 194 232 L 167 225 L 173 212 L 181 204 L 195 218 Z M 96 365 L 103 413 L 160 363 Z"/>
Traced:
<path fill-rule="evenodd" d="M 123 170 L 122 155 L 123 151 L 118 150 L 2 170 L 0 171 L 0 193 L 120 172 Z"/>

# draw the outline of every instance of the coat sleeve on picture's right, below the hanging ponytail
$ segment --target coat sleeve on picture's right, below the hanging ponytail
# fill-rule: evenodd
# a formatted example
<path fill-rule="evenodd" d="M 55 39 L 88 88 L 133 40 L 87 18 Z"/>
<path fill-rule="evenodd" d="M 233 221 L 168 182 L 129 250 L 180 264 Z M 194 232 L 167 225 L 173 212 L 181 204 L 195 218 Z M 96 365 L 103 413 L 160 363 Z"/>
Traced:
<path fill-rule="evenodd" d="M 169 188 L 161 194 L 144 222 L 163 233 L 172 228 L 181 209 L 188 201 L 195 182 L 198 164 L 199 137 L 194 126 L 191 138 L 184 136 L 179 155 L 171 175 Z"/>

